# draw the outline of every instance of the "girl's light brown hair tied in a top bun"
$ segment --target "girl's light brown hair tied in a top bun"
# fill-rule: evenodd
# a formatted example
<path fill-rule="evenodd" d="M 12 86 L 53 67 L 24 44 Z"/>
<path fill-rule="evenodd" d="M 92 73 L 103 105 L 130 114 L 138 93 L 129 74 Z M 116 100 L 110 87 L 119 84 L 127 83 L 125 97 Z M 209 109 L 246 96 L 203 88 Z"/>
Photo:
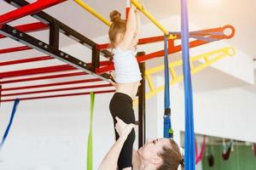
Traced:
<path fill-rule="evenodd" d="M 108 37 L 110 40 L 109 48 L 114 48 L 118 34 L 125 34 L 126 21 L 121 19 L 121 14 L 116 10 L 113 10 L 109 14 L 109 17 L 112 22 L 108 31 Z"/>

